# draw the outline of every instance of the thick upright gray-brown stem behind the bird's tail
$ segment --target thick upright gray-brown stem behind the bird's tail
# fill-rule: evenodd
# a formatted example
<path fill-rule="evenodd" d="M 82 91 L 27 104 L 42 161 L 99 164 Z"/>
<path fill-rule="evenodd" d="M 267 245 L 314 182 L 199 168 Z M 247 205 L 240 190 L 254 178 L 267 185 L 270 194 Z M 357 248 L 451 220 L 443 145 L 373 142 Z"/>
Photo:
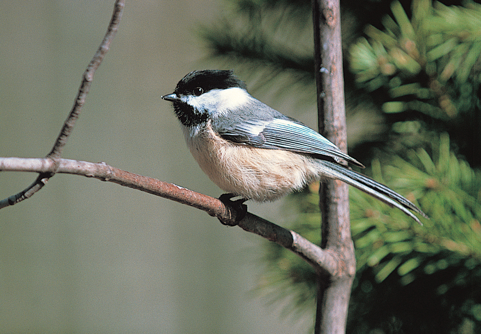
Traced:
<path fill-rule="evenodd" d="M 339 0 L 312 0 L 314 59 L 319 133 L 346 152 Z M 356 272 L 351 238 L 348 186 L 327 180 L 319 189 L 323 249 L 336 252 L 341 270 L 317 276 L 315 333 L 345 332 L 351 287 Z"/>

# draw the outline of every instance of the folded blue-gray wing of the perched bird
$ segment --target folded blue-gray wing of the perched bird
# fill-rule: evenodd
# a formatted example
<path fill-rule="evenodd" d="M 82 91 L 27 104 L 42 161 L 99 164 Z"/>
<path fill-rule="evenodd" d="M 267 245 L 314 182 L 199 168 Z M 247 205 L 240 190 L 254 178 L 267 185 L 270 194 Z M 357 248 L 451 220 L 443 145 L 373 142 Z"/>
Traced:
<path fill-rule="evenodd" d="M 276 116 L 267 120 L 249 118 L 243 121 L 217 121 L 213 123 L 213 128 L 221 137 L 234 143 L 328 156 L 335 161 L 344 159 L 364 167 L 359 161 L 346 155 L 336 145 L 301 122 L 282 114 Z"/>

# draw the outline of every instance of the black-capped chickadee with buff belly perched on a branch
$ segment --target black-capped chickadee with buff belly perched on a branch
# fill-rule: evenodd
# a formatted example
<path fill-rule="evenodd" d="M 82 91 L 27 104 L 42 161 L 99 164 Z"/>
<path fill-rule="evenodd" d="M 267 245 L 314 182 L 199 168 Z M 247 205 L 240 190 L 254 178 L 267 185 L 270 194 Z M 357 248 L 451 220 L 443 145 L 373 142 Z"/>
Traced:
<path fill-rule="evenodd" d="M 171 101 L 192 155 L 224 191 L 244 199 L 275 200 L 323 178 L 340 179 L 399 208 L 414 220 L 412 202 L 339 164 L 364 167 L 301 122 L 263 104 L 232 71 L 192 71 Z"/>

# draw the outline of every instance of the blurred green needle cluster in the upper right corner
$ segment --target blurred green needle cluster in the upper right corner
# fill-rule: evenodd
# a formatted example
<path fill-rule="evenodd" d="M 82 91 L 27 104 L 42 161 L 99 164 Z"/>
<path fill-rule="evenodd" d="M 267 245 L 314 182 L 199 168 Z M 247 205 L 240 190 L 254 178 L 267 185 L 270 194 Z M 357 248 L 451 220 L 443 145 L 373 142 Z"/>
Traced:
<path fill-rule="evenodd" d="M 386 113 L 416 110 L 449 120 L 480 106 L 481 5 L 447 7 L 413 3 L 409 20 L 399 2 L 385 17 L 385 31 L 369 25 L 350 49 L 356 80 L 368 90 L 387 88 Z"/>

